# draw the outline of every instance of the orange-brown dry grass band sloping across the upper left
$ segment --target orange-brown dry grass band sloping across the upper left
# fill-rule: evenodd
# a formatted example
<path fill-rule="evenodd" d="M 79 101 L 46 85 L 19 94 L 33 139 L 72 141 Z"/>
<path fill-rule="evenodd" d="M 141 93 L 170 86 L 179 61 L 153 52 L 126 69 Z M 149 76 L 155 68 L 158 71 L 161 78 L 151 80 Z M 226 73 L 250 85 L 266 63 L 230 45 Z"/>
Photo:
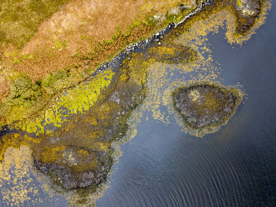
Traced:
<path fill-rule="evenodd" d="M 101 43 L 110 40 L 117 33 L 126 34 L 134 21 L 142 22 L 153 14 L 166 11 L 179 3 L 193 3 L 192 0 L 76 0 L 52 15 L 39 26 L 38 32 L 21 50 L 1 43 L 2 68 L 0 75 L 0 101 L 8 94 L 8 82 L 15 75 L 28 75 L 32 81 L 43 79 L 48 73 L 70 70 L 70 66 L 84 68 L 83 57 L 89 57 L 86 70 L 105 61 L 132 41 L 146 37 L 157 28 L 150 25 L 133 28 L 128 37 L 120 36 L 112 44 Z M 91 52 L 91 48 L 92 51 Z M 17 51 L 17 52 L 15 52 Z M 15 53 L 12 53 L 15 52 Z M 5 68 L 5 71 L 3 70 Z"/>

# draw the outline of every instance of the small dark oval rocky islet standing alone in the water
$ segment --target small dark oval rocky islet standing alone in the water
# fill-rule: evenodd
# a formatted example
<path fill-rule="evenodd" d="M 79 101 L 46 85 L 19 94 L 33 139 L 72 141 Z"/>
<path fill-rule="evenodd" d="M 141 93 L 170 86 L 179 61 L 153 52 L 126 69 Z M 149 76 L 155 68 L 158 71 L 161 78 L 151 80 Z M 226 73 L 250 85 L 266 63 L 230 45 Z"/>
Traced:
<path fill-rule="evenodd" d="M 175 109 L 195 129 L 224 124 L 242 100 L 235 88 L 207 83 L 177 88 L 172 96 Z"/>

